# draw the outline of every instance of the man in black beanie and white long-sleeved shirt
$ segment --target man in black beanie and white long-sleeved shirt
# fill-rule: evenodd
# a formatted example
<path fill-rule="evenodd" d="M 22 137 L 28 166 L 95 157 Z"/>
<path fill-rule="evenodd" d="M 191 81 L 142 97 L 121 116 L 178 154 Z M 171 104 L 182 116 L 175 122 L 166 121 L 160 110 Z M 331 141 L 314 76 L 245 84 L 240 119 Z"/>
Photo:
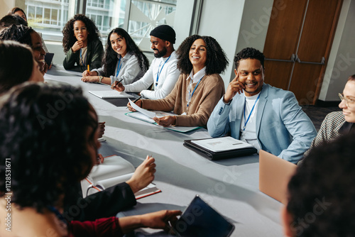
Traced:
<path fill-rule="evenodd" d="M 155 27 L 150 35 L 155 59 L 149 70 L 133 84 L 124 86 L 115 82 L 112 84 L 113 89 L 119 92 L 140 92 L 141 96 L 147 99 L 163 99 L 173 90 L 180 75 L 177 67 L 178 57 L 173 46 L 175 31 L 168 25 L 161 25 Z M 154 85 L 154 91 L 147 89 L 151 84 Z"/>

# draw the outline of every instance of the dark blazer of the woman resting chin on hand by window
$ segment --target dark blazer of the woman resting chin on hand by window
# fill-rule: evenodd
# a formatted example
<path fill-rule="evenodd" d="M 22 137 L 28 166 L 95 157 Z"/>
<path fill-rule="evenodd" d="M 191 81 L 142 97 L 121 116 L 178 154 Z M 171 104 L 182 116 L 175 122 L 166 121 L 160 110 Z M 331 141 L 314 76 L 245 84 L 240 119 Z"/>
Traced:
<path fill-rule="evenodd" d="M 104 47 L 100 40 L 94 40 L 87 43 L 87 64 L 90 65 L 90 70 L 101 67 L 102 56 L 104 55 Z M 72 49 L 67 52 L 67 56 L 63 61 L 63 67 L 65 70 L 76 70 L 78 72 L 84 72 L 87 70 L 87 65 L 80 66 L 80 53 L 72 52 Z M 75 63 L 77 65 L 75 65 Z"/>

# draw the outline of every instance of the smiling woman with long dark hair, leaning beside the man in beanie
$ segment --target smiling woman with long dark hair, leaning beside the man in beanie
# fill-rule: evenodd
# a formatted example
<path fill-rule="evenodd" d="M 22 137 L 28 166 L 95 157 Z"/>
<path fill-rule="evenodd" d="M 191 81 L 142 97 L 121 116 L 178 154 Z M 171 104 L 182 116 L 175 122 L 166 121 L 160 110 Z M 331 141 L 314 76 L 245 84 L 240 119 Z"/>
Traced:
<path fill-rule="evenodd" d="M 146 55 L 134 43 L 129 33 L 122 28 L 114 28 L 107 36 L 102 67 L 91 72 L 82 72 L 82 81 L 104 84 L 119 81 L 124 85 L 131 84 L 141 79 L 148 67 Z"/>

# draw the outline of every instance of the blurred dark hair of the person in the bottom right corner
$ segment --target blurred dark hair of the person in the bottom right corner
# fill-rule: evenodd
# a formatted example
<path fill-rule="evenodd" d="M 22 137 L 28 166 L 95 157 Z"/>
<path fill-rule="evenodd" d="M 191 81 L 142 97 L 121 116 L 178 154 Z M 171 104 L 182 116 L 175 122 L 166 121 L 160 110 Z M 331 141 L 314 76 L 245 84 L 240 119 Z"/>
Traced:
<path fill-rule="evenodd" d="M 288 184 L 295 236 L 354 236 L 355 134 L 313 148 Z"/>

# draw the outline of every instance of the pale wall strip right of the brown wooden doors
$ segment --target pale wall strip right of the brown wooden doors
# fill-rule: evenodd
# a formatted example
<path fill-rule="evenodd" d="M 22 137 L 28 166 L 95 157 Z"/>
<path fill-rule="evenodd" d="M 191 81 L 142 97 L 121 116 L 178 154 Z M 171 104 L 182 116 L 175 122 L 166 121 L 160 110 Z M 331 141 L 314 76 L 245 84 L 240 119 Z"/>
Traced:
<path fill-rule="evenodd" d="M 355 74 L 355 1 L 344 0 L 319 99 L 340 101 L 346 79 Z"/>

